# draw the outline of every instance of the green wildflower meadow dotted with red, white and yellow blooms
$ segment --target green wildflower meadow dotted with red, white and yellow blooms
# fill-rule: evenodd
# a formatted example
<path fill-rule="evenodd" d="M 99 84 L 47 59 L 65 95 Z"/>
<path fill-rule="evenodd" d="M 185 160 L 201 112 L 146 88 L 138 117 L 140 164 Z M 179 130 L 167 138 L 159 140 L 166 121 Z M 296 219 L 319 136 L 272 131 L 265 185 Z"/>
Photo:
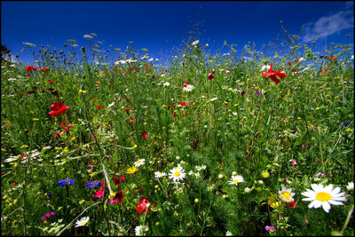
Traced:
<path fill-rule="evenodd" d="M 2 59 L 2 235 L 354 234 L 352 45 L 83 37 Z"/>

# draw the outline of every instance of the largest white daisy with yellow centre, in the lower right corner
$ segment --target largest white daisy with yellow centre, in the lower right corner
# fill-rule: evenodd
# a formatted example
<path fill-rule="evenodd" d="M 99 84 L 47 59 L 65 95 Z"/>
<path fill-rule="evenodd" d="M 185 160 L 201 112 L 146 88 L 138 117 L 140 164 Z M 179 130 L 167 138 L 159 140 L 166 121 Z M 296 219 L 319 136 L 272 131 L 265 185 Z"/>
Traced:
<path fill-rule="evenodd" d="M 333 185 L 328 185 L 323 187 L 323 185 L 312 184 L 312 189 L 306 189 L 306 192 L 302 193 L 305 197 L 303 201 L 312 201 L 308 208 L 318 209 L 320 206 L 328 213 L 330 210 L 330 204 L 332 205 L 343 205 L 343 202 L 346 201 L 346 198 L 343 197 L 343 194 L 340 194 L 340 187 L 335 187 Z"/>

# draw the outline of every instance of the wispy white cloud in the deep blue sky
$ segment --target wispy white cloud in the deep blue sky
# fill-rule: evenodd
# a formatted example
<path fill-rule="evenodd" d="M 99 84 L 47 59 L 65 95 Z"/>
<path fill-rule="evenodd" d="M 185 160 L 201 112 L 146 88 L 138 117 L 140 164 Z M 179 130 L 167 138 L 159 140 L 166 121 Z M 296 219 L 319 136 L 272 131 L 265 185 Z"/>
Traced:
<path fill-rule="evenodd" d="M 354 14 L 352 11 L 341 11 L 330 16 L 323 16 L 315 22 L 304 24 L 301 38 L 304 43 L 315 40 L 316 36 L 324 38 L 341 32 L 346 28 L 354 28 Z"/>

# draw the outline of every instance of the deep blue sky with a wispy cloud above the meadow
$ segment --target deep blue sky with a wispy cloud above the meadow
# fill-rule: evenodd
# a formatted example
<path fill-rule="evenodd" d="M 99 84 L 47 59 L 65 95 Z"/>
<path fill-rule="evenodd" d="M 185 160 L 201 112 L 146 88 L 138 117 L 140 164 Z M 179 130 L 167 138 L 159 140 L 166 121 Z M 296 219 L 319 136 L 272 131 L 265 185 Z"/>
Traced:
<path fill-rule="evenodd" d="M 209 43 L 213 52 L 225 41 L 237 44 L 239 51 L 248 42 L 256 43 L 256 49 L 283 42 L 280 20 L 292 35 L 304 26 L 300 43 L 319 36 L 320 47 L 325 39 L 327 44 L 353 44 L 354 6 L 345 1 L 2 1 L 1 41 L 30 62 L 34 59 L 25 42 L 61 50 L 68 39 L 87 46 L 83 36 L 95 33 L 106 49 L 112 44 L 124 50 L 132 41 L 136 50 L 146 48 L 149 56 L 161 59 L 187 40 L 192 21 L 200 22 L 200 43 Z"/>

